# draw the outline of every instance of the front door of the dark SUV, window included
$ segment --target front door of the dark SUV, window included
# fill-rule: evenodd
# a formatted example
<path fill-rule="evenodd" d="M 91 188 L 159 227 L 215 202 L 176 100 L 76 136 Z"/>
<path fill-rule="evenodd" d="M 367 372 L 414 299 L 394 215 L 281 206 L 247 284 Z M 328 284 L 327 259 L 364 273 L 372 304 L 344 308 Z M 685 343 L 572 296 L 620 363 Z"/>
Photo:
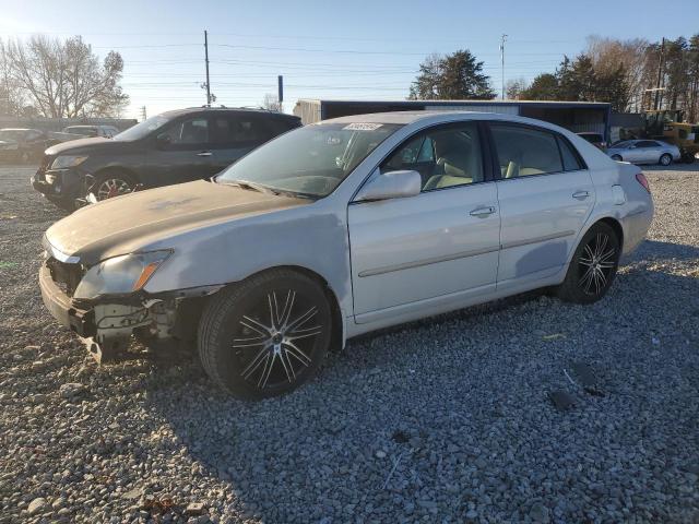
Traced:
<path fill-rule="evenodd" d="M 169 186 L 214 175 L 210 136 L 205 115 L 185 117 L 165 127 L 146 154 L 146 186 Z"/>

